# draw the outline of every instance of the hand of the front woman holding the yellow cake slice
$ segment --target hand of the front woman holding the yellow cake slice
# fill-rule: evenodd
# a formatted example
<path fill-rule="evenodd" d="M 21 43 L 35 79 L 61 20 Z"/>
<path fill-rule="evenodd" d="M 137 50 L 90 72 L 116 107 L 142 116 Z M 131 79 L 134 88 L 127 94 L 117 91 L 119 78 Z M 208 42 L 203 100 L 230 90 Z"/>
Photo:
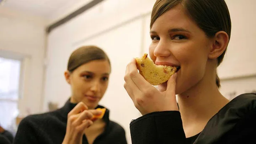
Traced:
<path fill-rule="evenodd" d="M 124 88 L 142 115 L 157 111 L 178 111 L 176 78 L 175 73 L 168 80 L 166 91 L 160 92 L 138 73 L 133 59 L 126 67 Z"/>

